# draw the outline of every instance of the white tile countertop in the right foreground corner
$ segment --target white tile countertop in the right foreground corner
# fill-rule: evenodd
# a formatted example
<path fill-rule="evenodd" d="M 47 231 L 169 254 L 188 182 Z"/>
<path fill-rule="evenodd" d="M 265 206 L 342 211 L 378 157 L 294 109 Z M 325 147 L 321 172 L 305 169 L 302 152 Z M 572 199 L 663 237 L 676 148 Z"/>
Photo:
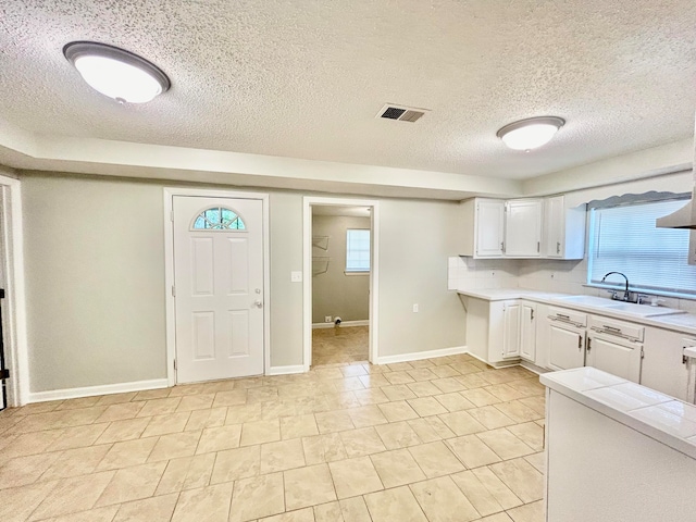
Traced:
<path fill-rule="evenodd" d="M 540 383 L 696 459 L 696 406 L 592 366 L 545 373 Z"/>

